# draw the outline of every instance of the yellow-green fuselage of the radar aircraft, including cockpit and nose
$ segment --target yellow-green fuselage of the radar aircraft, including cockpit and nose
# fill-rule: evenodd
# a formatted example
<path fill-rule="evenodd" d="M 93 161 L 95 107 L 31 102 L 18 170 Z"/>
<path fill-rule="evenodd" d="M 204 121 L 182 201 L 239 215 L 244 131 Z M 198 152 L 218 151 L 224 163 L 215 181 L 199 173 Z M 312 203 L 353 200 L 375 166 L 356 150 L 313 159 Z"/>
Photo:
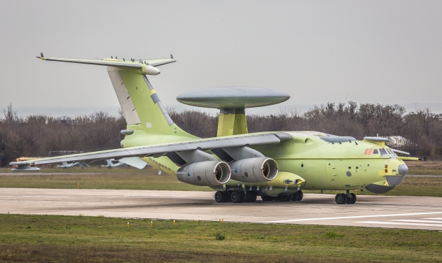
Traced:
<path fill-rule="evenodd" d="M 374 185 L 370 186 L 374 187 L 374 192 L 382 192 L 384 189 L 391 190 L 392 187 L 399 185 L 405 176 L 403 172 L 401 174 L 399 171 L 403 171 L 406 164 L 398 159 L 385 143 L 372 141 L 332 143 L 321 138 L 327 134 L 318 131 L 284 132 L 291 134 L 293 140 L 251 148 L 258 150 L 266 157 L 275 159 L 279 166 L 279 177 L 289 178 L 287 174 L 294 174 L 301 178 L 300 181 L 303 179 L 303 183 L 287 186 L 282 183 L 284 178 L 275 178 L 274 181 L 265 183 L 242 183 L 230 179 L 223 187 L 261 187 L 268 194 L 271 191 L 277 194 L 282 190 L 296 192 L 300 187 L 303 190 L 357 190 L 363 189 L 367 185 Z M 141 132 L 126 136 L 122 144 L 125 147 L 133 147 L 188 140 L 188 137 L 179 136 L 179 134 L 148 135 Z M 174 176 L 177 175 L 179 166 L 165 156 L 144 157 L 144 160 L 157 169 Z M 408 171 L 408 169 L 406 170 Z M 213 188 L 220 189 L 220 187 Z"/>

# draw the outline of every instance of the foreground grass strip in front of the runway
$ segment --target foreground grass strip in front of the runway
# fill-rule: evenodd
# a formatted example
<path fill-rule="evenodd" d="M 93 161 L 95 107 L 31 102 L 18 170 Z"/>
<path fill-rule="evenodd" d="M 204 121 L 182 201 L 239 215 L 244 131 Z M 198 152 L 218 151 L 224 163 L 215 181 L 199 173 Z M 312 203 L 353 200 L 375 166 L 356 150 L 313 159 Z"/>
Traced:
<path fill-rule="evenodd" d="M 1 262 L 441 262 L 442 233 L 0 215 Z M 216 239 L 216 233 L 226 238 Z"/>

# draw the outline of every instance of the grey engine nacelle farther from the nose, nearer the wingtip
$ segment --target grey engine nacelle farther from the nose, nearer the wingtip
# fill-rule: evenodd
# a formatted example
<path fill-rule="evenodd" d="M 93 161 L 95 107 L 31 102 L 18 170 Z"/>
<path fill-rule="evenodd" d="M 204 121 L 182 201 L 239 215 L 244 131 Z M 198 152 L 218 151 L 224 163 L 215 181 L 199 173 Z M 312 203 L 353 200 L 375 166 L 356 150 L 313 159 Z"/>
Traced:
<path fill-rule="evenodd" d="M 178 169 L 177 178 L 191 185 L 223 185 L 230 179 L 230 167 L 223 161 L 195 162 Z"/>

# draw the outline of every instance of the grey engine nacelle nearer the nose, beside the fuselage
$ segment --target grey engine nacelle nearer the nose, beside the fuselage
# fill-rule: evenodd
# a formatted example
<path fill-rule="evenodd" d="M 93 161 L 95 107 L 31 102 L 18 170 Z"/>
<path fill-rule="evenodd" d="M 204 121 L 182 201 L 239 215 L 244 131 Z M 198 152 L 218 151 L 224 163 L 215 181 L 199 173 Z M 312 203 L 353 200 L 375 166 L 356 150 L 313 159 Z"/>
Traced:
<path fill-rule="evenodd" d="M 277 162 L 268 157 L 240 159 L 229 165 L 232 179 L 246 183 L 268 182 L 278 173 Z"/>

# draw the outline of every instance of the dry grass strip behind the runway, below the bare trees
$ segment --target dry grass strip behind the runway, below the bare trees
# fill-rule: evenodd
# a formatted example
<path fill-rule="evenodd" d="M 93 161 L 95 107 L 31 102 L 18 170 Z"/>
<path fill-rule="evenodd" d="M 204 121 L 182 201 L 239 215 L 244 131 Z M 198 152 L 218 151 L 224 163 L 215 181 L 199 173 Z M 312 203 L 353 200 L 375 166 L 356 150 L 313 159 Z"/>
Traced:
<path fill-rule="evenodd" d="M 434 171 L 442 162 L 408 162 L 410 171 L 425 169 Z M 1 170 L 0 170 L 1 171 Z M 54 189 L 118 189 L 118 190 L 180 190 L 212 191 L 209 187 L 200 187 L 181 183 L 175 176 L 163 173 L 151 167 L 139 170 L 134 168 L 118 169 L 46 169 L 41 175 L 0 176 L 0 187 L 18 188 L 54 188 Z M 440 169 L 438 171 L 441 171 Z M 60 173 L 64 174 L 51 174 Z M 86 173 L 87 172 L 87 173 Z M 422 173 L 425 174 L 425 173 Z M 434 173 L 427 173 L 434 174 Z M 436 173 L 437 174 L 437 173 Z M 439 173 L 440 174 L 440 173 Z M 406 177 L 401 185 L 383 195 L 407 195 L 419 197 L 442 197 L 442 176 L 437 178 Z M 305 191 L 315 193 L 317 191 Z M 339 191 L 325 191 L 336 194 Z M 373 194 L 368 191 L 358 194 Z"/>

